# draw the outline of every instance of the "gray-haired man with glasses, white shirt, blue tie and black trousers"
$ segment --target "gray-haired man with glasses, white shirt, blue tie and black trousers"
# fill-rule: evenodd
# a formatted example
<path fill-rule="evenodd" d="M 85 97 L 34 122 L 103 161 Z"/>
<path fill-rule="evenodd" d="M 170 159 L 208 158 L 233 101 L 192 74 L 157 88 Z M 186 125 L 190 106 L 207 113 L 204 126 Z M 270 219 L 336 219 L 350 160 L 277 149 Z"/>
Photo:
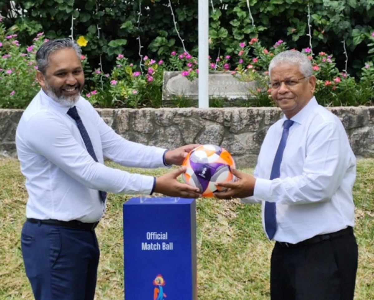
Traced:
<path fill-rule="evenodd" d="M 356 158 L 346 131 L 314 97 L 306 55 L 287 50 L 269 65 L 274 102 L 284 116 L 270 126 L 253 176 L 233 170 L 217 198 L 262 203 L 263 227 L 275 241 L 272 300 L 352 300 L 358 261 L 352 187 Z"/>

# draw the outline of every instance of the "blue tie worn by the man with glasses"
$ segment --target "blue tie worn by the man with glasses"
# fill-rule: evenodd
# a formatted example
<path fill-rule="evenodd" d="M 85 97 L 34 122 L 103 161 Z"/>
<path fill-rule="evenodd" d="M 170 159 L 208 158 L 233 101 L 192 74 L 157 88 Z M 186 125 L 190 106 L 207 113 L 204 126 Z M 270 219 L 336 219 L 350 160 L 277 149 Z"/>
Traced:
<path fill-rule="evenodd" d="M 277 152 L 275 153 L 275 158 L 273 162 L 272 172 L 270 173 L 270 180 L 274 178 L 279 178 L 280 167 L 283 157 L 283 151 L 286 146 L 286 141 L 288 137 L 288 129 L 292 126 L 294 121 L 285 120 L 283 123 L 282 138 L 279 142 Z M 275 202 L 265 202 L 265 230 L 269 239 L 273 239 L 275 232 L 277 231 L 277 220 L 276 220 L 276 206 Z"/>

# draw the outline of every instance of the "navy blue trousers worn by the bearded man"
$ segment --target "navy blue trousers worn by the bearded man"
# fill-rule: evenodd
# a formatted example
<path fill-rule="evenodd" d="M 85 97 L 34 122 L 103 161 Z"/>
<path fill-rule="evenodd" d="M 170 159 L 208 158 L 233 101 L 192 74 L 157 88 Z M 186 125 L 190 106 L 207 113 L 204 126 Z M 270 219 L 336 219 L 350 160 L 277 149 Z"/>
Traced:
<path fill-rule="evenodd" d="M 36 300 L 93 300 L 99 263 L 95 231 L 26 221 L 21 250 Z"/>

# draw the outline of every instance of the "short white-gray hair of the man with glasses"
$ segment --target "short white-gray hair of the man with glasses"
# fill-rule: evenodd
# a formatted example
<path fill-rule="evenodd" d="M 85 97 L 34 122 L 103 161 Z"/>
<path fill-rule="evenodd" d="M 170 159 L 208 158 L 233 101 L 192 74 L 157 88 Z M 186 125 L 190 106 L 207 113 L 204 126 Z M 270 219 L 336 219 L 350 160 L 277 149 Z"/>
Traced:
<path fill-rule="evenodd" d="M 286 50 L 275 55 L 269 64 L 269 77 L 272 68 L 278 64 L 296 64 L 300 73 L 305 77 L 313 75 L 312 63 L 309 58 L 297 50 Z"/>

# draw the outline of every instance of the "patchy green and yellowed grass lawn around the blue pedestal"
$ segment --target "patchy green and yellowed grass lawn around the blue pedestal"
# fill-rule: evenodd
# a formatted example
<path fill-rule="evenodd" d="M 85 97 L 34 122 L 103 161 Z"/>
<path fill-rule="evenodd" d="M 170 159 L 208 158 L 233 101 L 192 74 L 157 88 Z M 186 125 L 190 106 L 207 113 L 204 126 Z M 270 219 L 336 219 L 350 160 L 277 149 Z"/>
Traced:
<path fill-rule="evenodd" d="M 150 175 L 168 171 L 125 169 Z M 243 171 L 252 172 L 251 169 Z M 101 248 L 97 300 L 123 299 L 122 204 L 133 196 L 109 194 L 107 210 L 96 229 Z M 374 159 L 358 161 L 354 198 L 359 245 L 355 299 L 374 299 Z M 33 299 L 19 241 L 26 199 L 18 160 L 1 158 L 1 300 Z M 242 205 L 238 200 L 197 199 L 198 299 L 269 299 L 272 248 L 273 242 L 265 238 L 261 227 L 260 205 Z"/>

